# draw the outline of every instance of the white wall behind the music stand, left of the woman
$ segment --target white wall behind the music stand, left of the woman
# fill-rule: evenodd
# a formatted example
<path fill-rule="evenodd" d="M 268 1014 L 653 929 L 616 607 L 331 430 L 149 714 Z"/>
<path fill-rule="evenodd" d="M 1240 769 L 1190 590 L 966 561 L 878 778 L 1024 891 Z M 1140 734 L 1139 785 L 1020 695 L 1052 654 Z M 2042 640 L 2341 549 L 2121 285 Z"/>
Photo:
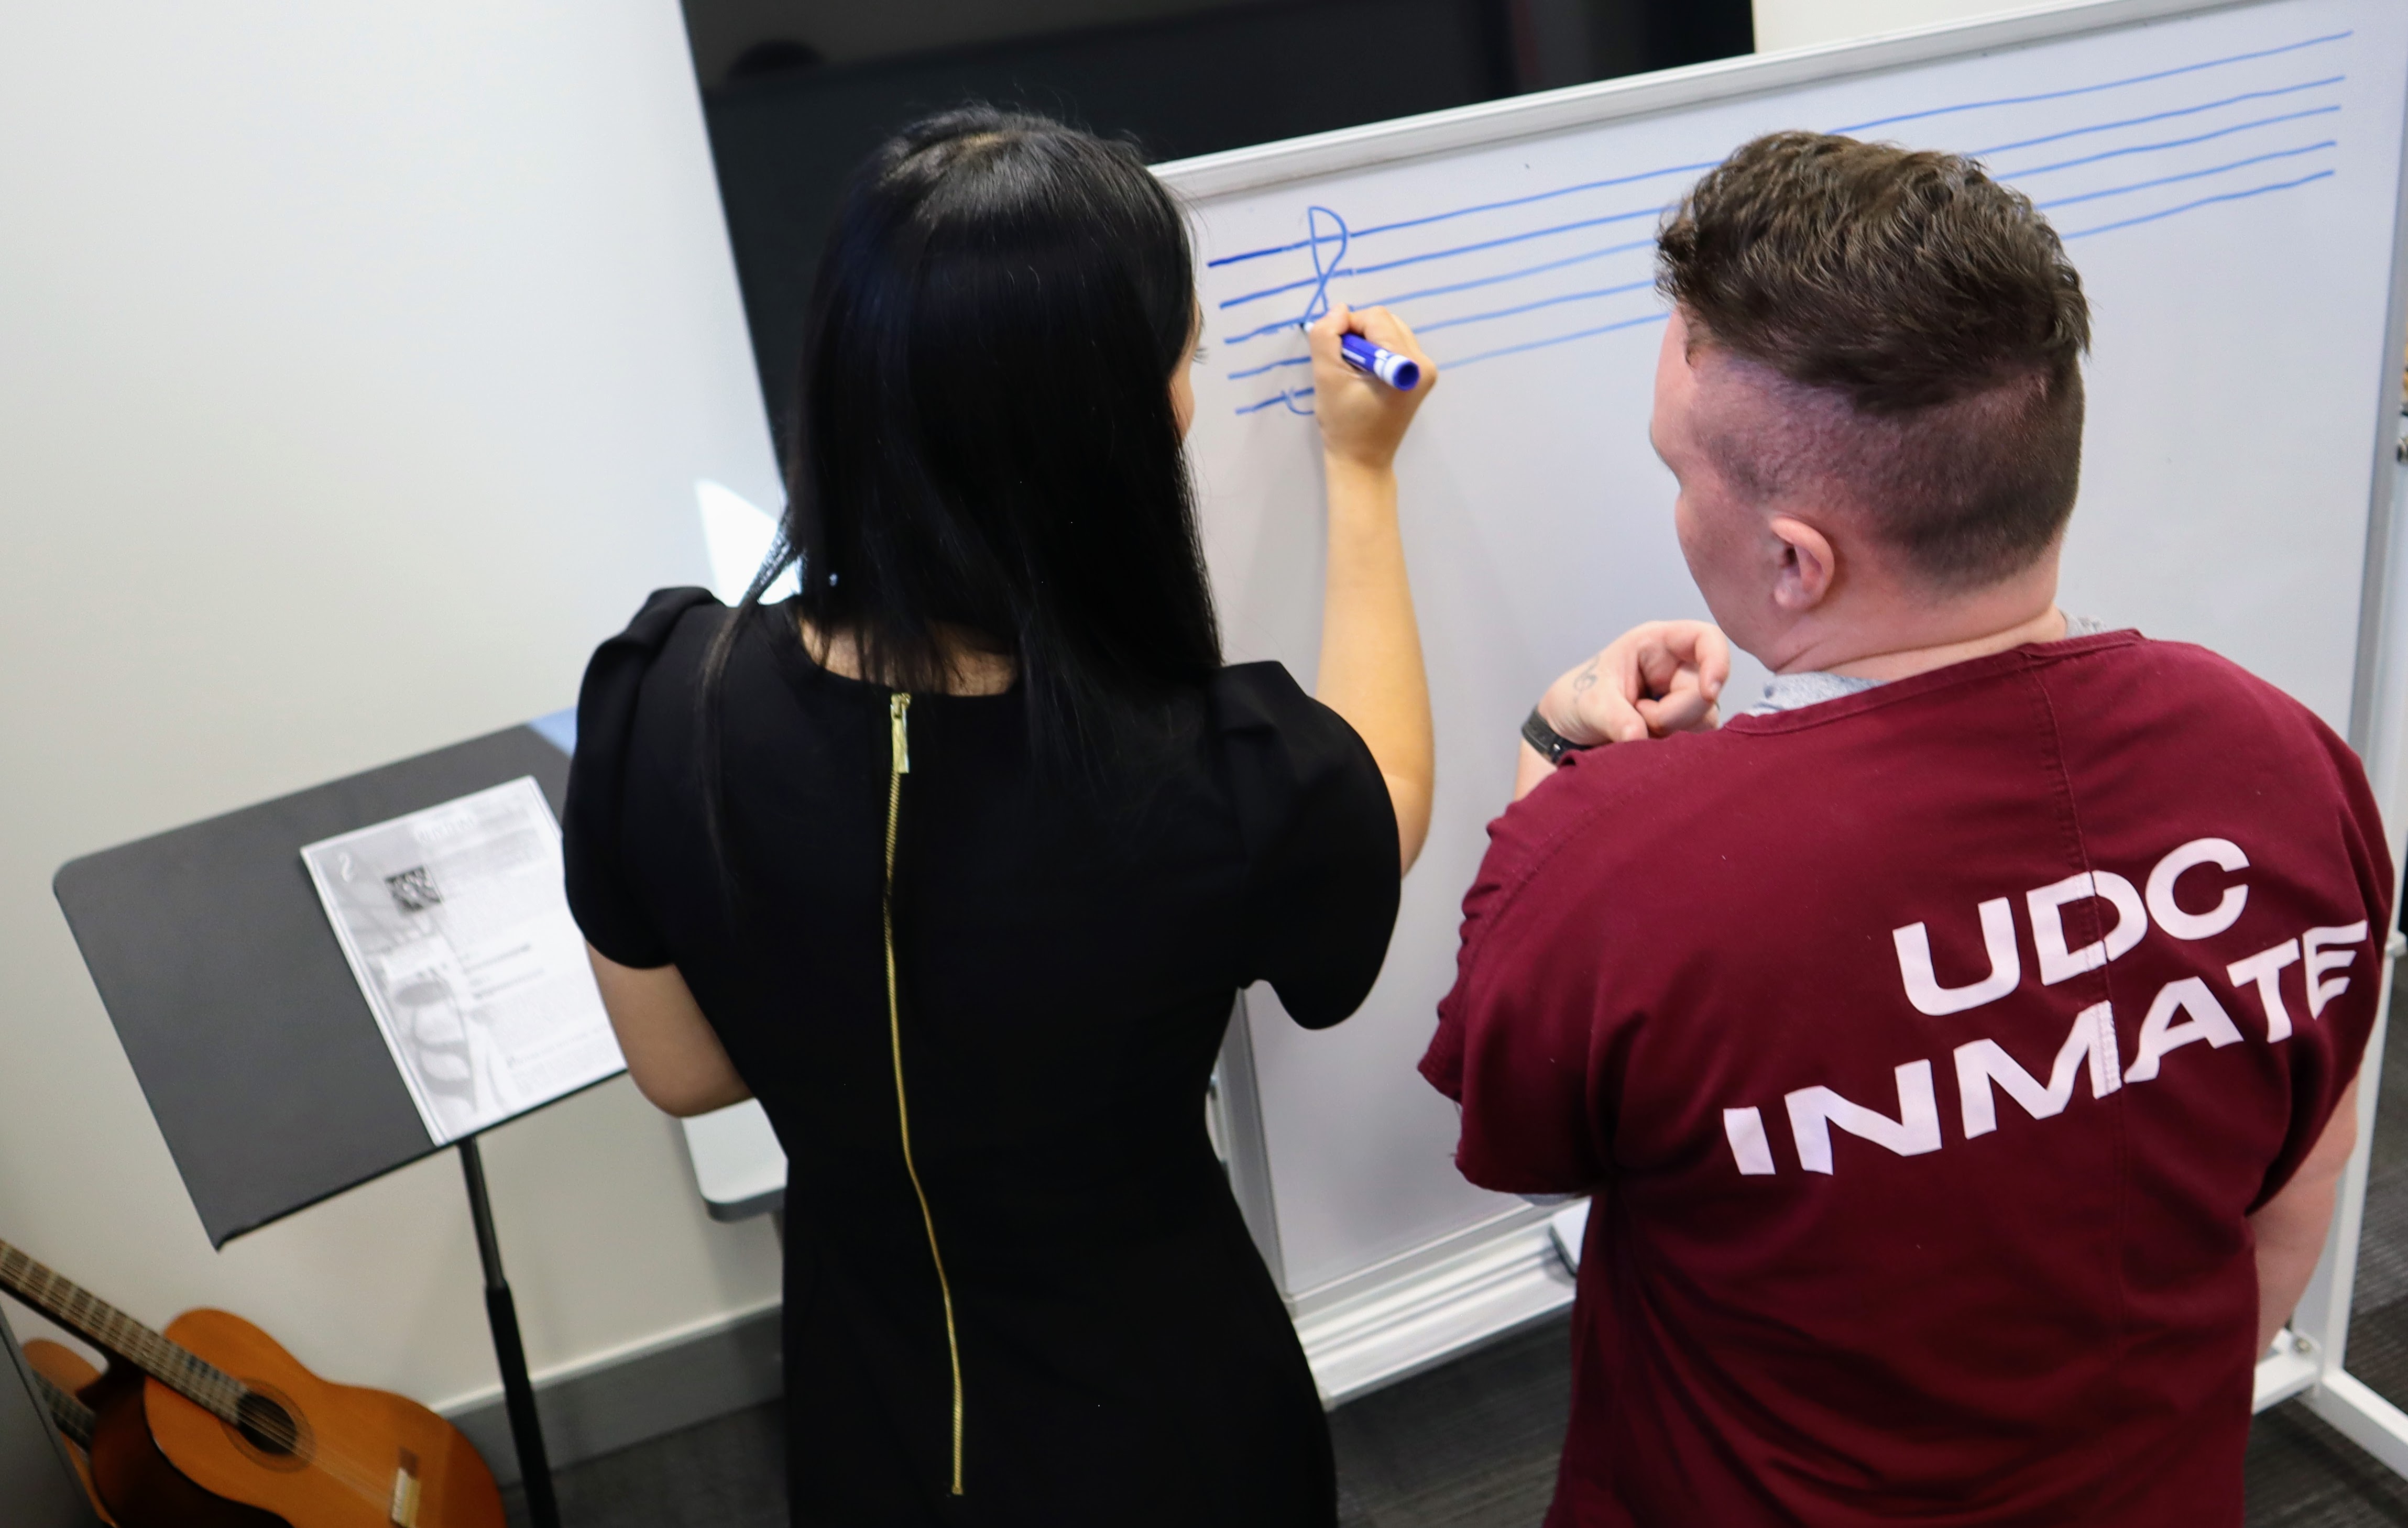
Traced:
<path fill-rule="evenodd" d="M 12 5 L 0 144 L 0 1237 L 467 1398 L 455 1162 L 212 1254 L 48 881 L 568 705 L 778 501 L 677 0 Z M 486 1162 L 539 1372 L 775 1295 L 624 1080 Z"/>

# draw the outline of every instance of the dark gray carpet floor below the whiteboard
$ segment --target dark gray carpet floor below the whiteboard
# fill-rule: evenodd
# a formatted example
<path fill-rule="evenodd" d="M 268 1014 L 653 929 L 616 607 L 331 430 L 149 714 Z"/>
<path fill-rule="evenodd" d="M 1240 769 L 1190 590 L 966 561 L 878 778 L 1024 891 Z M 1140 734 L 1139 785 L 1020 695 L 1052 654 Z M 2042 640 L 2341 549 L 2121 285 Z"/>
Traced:
<path fill-rule="evenodd" d="M 2384 1059 L 2350 1372 L 2408 1405 L 2408 1037 Z M 1534 1528 L 1570 1405 L 1565 1321 L 1517 1333 L 1329 1417 L 1344 1528 Z M 783 1528 L 775 1405 L 585 1461 L 563 1528 Z M 2408 1528 L 2408 1480 L 2300 1403 L 2249 1434 L 2249 1528 Z M 525 1506 L 510 1502 L 510 1521 Z"/>

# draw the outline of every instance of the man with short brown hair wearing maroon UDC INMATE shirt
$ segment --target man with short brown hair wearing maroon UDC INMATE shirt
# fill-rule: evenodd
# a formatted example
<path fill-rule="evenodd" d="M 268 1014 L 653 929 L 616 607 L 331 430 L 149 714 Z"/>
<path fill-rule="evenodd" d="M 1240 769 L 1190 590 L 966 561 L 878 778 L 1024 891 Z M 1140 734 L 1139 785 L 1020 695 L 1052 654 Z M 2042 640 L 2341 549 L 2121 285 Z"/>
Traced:
<path fill-rule="evenodd" d="M 1662 286 L 1681 546 L 1777 679 L 1712 729 L 1727 647 L 1659 623 L 1541 698 L 1423 1059 L 1471 1181 L 1594 1196 L 1548 1523 L 2239 1523 L 2379 996 L 2357 758 L 2068 630 L 2088 308 L 2028 200 L 1777 135 Z"/>

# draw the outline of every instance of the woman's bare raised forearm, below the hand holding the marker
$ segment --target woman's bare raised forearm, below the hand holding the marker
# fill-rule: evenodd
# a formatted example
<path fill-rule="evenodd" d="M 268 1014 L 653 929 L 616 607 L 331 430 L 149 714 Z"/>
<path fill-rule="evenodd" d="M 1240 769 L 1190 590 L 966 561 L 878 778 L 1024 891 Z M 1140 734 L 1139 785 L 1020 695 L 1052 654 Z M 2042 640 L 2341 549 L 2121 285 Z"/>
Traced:
<path fill-rule="evenodd" d="M 1397 472 L 1339 455 L 1329 484 L 1329 570 L 1322 594 L 1320 700 L 1370 746 L 1413 866 L 1430 833 L 1430 683 L 1397 529 Z"/>

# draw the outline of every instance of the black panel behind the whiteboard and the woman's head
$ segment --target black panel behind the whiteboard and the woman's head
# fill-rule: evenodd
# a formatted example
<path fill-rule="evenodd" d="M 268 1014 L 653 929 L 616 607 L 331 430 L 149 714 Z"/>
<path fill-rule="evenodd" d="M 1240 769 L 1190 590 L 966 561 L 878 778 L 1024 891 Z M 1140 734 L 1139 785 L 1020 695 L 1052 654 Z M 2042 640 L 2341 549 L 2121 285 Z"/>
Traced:
<path fill-rule="evenodd" d="M 1748 0 L 686 0 L 686 24 L 773 421 L 843 176 L 920 113 L 1026 106 L 1163 161 L 1755 46 Z"/>

